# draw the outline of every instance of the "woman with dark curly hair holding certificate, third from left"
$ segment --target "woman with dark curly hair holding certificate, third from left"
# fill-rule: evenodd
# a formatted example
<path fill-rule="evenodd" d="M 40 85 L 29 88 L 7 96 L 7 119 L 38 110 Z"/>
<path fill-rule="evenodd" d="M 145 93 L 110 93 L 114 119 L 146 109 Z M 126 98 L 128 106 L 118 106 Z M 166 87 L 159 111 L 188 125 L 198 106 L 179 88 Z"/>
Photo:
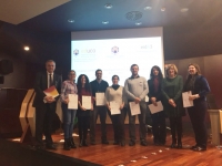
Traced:
<path fill-rule="evenodd" d="M 85 74 L 81 74 L 78 77 L 78 95 L 79 95 L 79 108 L 78 108 L 78 127 L 80 147 L 88 146 L 87 134 L 90 122 L 90 111 L 93 111 L 93 100 L 89 79 Z"/>

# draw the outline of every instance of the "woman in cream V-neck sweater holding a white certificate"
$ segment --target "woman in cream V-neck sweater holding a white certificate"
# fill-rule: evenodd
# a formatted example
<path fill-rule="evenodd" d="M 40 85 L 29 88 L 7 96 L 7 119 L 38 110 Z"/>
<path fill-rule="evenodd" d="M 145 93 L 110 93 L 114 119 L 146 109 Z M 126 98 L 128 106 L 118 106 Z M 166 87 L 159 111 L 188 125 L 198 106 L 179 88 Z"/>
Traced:
<path fill-rule="evenodd" d="M 119 85 L 119 76 L 112 76 L 112 86 L 107 87 L 105 101 L 109 108 L 108 114 L 112 121 L 114 131 L 113 145 L 124 146 L 124 118 L 127 110 L 124 107 L 123 86 Z"/>

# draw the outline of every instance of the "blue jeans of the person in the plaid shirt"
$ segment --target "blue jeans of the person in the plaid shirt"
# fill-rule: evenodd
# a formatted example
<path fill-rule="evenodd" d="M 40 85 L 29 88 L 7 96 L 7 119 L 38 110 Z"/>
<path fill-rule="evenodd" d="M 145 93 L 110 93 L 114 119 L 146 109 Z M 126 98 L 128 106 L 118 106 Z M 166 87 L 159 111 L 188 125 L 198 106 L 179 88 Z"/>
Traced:
<path fill-rule="evenodd" d="M 64 138 L 72 137 L 75 114 L 77 110 L 69 110 L 68 104 L 62 103 Z"/>

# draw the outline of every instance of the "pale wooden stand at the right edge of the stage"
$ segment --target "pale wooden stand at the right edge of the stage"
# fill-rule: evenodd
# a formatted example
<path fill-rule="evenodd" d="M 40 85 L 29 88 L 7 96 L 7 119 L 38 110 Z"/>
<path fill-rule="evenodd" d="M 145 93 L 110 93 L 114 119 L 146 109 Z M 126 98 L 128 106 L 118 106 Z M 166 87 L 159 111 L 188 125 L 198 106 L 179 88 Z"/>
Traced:
<path fill-rule="evenodd" d="M 212 144 L 220 145 L 221 124 L 220 110 L 208 110 L 211 120 Z"/>

